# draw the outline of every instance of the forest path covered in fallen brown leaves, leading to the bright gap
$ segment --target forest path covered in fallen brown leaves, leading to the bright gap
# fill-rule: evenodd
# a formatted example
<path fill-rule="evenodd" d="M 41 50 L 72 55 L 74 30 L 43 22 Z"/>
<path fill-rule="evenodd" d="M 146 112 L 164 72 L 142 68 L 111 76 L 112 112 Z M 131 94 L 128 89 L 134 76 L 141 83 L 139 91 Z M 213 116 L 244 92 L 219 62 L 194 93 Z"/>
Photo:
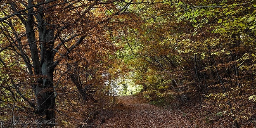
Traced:
<path fill-rule="evenodd" d="M 117 97 L 120 107 L 100 128 L 194 128 L 178 110 L 143 103 L 133 96 Z"/>

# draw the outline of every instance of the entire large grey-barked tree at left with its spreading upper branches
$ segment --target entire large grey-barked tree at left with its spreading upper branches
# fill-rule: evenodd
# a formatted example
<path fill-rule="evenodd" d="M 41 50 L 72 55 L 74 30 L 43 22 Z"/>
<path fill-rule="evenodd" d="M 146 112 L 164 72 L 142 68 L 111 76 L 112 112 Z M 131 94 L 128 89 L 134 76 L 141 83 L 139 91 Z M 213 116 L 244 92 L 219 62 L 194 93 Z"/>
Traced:
<path fill-rule="evenodd" d="M 9 15 L 6 14 L 6 17 L 0 18 L 1 23 L 7 22 L 8 24 L 9 21 L 8 25 L 11 26 L 14 37 L 16 38 L 15 40 L 12 40 L 13 42 L 11 43 L 11 45 L 8 45 L 5 48 L 1 48 L 0 52 L 4 49 L 7 49 L 8 47 L 11 47 L 13 44 L 17 45 L 15 46 L 17 47 L 17 51 L 19 51 L 19 53 L 17 52 L 17 54 L 20 55 L 25 62 L 30 77 L 37 78 L 36 82 L 31 83 L 34 95 L 36 97 L 36 104 L 32 104 L 35 105 L 35 107 L 33 107 L 35 109 L 34 111 L 38 116 L 38 121 L 52 122 L 51 124 L 38 125 L 38 127 L 42 128 L 55 126 L 55 97 L 57 95 L 55 95 L 55 89 L 53 85 L 53 73 L 55 67 L 62 61 L 64 57 L 68 58 L 68 54 L 78 45 L 80 45 L 85 38 L 83 32 L 77 32 L 74 33 L 73 36 L 65 37 L 65 40 L 62 40 L 61 36 L 63 35 L 63 33 L 61 32 L 65 29 L 68 29 L 70 26 L 68 25 L 68 23 L 65 23 L 64 25 L 53 24 L 51 17 L 47 17 L 45 12 L 50 12 L 51 9 L 54 9 L 54 7 L 65 4 L 66 7 L 64 7 L 64 9 L 73 9 L 72 4 L 76 3 L 73 2 L 76 0 L 63 0 L 62 2 L 56 1 L 57 0 L 9 0 L 8 4 L 13 10 L 13 13 Z M 50 4 L 50 2 L 52 2 L 52 4 Z M 77 0 L 77 2 L 79 2 L 79 0 Z M 83 6 L 79 6 L 81 7 L 81 9 L 84 9 L 84 11 L 81 12 L 82 14 L 79 14 L 79 16 L 84 16 L 85 14 L 90 12 L 93 6 L 99 3 L 103 4 L 102 2 L 95 0 L 88 7 L 84 6 L 84 8 L 82 8 Z M 19 7 L 19 4 L 22 4 L 24 6 Z M 126 6 L 127 5 L 128 4 L 126 4 Z M 122 9 L 119 12 L 121 11 Z M 20 21 L 18 21 L 17 19 L 15 20 L 23 24 L 24 28 L 26 29 L 25 32 L 22 32 L 21 34 L 16 33 L 15 28 L 12 26 L 11 23 L 14 16 L 17 16 L 16 18 L 20 19 Z M 73 23 L 78 23 L 80 20 L 83 21 L 86 19 L 83 19 L 83 17 L 81 17 L 73 21 Z M 104 22 L 107 22 L 107 20 L 95 23 L 102 24 Z M 26 40 L 21 40 L 21 37 L 24 36 L 26 36 Z M 59 38 L 61 42 L 57 42 L 57 38 Z M 73 45 L 66 46 L 64 44 L 74 39 L 76 39 L 77 41 Z M 24 44 L 24 41 L 26 41 L 26 44 Z M 56 43 L 58 44 L 55 45 Z M 29 50 L 25 50 L 25 47 L 27 48 L 27 46 L 29 47 Z M 62 46 L 65 47 L 66 51 L 62 50 L 62 53 L 60 53 L 58 50 Z M 60 56 L 55 56 L 57 53 Z M 24 97 L 24 99 L 28 98 Z"/>

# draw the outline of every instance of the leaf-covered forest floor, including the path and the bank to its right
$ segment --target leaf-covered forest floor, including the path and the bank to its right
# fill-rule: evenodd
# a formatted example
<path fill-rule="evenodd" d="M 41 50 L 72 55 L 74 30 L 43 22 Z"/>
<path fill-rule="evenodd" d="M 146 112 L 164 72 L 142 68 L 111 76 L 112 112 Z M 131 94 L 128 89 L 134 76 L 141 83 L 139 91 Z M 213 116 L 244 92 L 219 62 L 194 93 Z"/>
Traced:
<path fill-rule="evenodd" d="M 202 104 L 175 109 L 157 107 L 134 96 L 117 97 L 119 106 L 100 128 L 235 128 L 232 120 L 214 118 Z"/>

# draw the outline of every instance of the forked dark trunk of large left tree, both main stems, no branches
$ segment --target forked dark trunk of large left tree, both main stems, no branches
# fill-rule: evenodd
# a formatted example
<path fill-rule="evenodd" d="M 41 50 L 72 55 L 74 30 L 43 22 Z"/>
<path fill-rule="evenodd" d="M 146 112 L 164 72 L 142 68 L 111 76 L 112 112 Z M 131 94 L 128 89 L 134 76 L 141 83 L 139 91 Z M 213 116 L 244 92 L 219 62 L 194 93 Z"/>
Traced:
<path fill-rule="evenodd" d="M 32 6 L 32 0 L 28 0 L 28 7 Z M 39 42 L 41 44 L 41 60 L 39 61 L 38 47 L 34 29 L 33 8 L 29 9 L 28 19 L 26 21 L 26 32 L 29 47 L 31 50 L 31 58 L 33 62 L 34 74 L 41 76 L 37 80 L 37 84 L 33 85 L 33 90 L 36 96 L 36 114 L 38 114 L 38 127 L 53 127 L 55 126 L 55 92 L 53 86 L 53 71 L 54 71 L 54 54 L 53 49 L 53 30 L 47 29 L 47 26 L 39 28 Z M 43 19 L 39 25 L 42 25 Z"/>

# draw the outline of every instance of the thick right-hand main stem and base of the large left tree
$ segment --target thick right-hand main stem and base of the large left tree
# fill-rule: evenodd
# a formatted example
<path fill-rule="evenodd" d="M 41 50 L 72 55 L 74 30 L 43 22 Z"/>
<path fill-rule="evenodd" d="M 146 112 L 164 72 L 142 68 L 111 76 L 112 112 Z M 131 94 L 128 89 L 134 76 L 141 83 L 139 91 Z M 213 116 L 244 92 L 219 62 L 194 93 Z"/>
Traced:
<path fill-rule="evenodd" d="M 55 91 L 53 85 L 54 54 L 53 54 L 53 35 L 54 31 L 42 27 L 39 31 L 41 43 L 41 72 L 42 78 L 36 87 L 36 97 L 38 104 L 38 114 L 40 121 L 44 121 L 41 127 L 55 126 Z"/>

